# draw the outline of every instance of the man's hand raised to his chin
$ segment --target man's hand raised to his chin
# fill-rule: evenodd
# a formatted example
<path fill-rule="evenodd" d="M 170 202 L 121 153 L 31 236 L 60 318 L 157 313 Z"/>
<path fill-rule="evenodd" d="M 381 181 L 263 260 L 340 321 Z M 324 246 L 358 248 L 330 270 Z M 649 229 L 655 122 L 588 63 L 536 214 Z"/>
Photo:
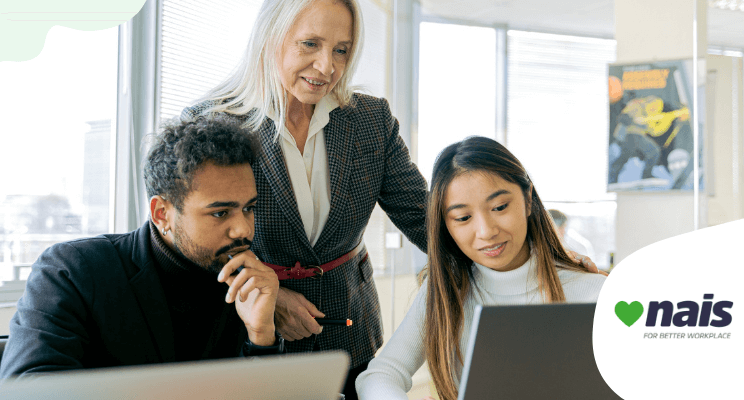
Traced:
<path fill-rule="evenodd" d="M 240 267 L 243 267 L 240 273 L 231 275 Z M 225 264 L 217 280 L 230 285 L 225 301 L 235 302 L 235 309 L 248 330 L 251 343 L 273 345 L 276 340 L 274 311 L 279 292 L 279 279 L 274 270 L 247 250 L 236 254 Z M 235 301 L 236 298 L 239 301 Z"/>

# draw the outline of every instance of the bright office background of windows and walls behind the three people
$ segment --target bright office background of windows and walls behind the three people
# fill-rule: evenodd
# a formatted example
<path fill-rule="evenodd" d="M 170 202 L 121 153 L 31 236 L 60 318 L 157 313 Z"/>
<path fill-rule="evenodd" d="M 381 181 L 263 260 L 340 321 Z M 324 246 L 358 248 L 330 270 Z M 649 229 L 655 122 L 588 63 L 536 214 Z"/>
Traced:
<path fill-rule="evenodd" d="M 354 82 L 390 101 L 427 180 L 448 144 L 501 141 L 605 270 L 648 244 L 742 218 L 744 1 L 359 2 Z M 259 6 L 148 0 L 119 27 L 55 27 L 35 59 L 0 63 L 0 334 L 45 248 L 147 220 L 143 139 L 225 78 Z M 681 59 L 699 60 L 688 106 L 701 121 L 704 184 L 608 192 L 608 64 Z M 365 242 L 389 338 L 426 256 L 379 208 Z M 423 368 L 414 390 L 427 382 Z"/>

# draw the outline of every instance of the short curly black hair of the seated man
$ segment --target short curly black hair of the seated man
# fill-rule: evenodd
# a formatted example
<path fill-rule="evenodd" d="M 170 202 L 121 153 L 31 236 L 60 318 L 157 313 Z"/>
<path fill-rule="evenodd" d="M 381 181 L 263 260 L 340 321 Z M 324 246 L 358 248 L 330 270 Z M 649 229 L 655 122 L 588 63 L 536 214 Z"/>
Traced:
<path fill-rule="evenodd" d="M 194 175 L 204 163 L 252 166 L 259 143 L 255 134 L 240 125 L 235 118 L 220 114 L 163 124 L 160 133 L 152 136 L 145 160 L 147 196 L 160 195 L 182 212 Z"/>

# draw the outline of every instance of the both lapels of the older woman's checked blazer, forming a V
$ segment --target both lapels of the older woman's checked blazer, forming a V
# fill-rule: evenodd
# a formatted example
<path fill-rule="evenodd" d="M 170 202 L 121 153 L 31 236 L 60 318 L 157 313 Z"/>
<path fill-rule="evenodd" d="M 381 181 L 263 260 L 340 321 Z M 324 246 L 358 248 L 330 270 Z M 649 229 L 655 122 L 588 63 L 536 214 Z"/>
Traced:
<path fill-rule="evenodd" d="M 344 220 L 346 204 L 348 202 L 348 180 L 351 173 L 351 147 L 356 133 L 356 127 L 348 115 L 345 108 L 337 108 L 331 111 L 330 121 L 325 126 L 325 143 L 328 154 L 328 169 L 331 186 L 331 209 L 328 215 L 328 221 L 320 233 L 320 237 L 313 248 L 310 245 L 305 234 L 305 228 L 302 224 L 300 212 L 297 207 L 297 200 L 292 190 L 292 185 L 287 174 L 287 167 L 284 163 L 281 146 L 274 140 L 275 127 L 270 119 L 266 119 L 259 129 L 261 140 L 263 160 L 263 169 L 267 181 L 270 182 L 271 191 L 277 203 L 282 208 L 292 230 L 297 235 L 302 246 L 312 254 L 320 254 L 323 248 L 332 243 L 334 232 L 338 229 L 341 221 Z M 328 260 L 320 260 L 325 262 Z"/>

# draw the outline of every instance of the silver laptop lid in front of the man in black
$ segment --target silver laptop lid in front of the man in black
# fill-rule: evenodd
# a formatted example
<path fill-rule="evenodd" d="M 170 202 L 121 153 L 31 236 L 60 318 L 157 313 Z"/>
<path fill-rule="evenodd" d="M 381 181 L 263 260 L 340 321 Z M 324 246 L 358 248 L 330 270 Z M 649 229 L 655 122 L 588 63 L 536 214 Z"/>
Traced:
<path fill-rule="evenodd" d="M 58 372 L 5 382 L 0 398 L 338 400 L 348 371 L 344 352 L 231 358 Z"/>

